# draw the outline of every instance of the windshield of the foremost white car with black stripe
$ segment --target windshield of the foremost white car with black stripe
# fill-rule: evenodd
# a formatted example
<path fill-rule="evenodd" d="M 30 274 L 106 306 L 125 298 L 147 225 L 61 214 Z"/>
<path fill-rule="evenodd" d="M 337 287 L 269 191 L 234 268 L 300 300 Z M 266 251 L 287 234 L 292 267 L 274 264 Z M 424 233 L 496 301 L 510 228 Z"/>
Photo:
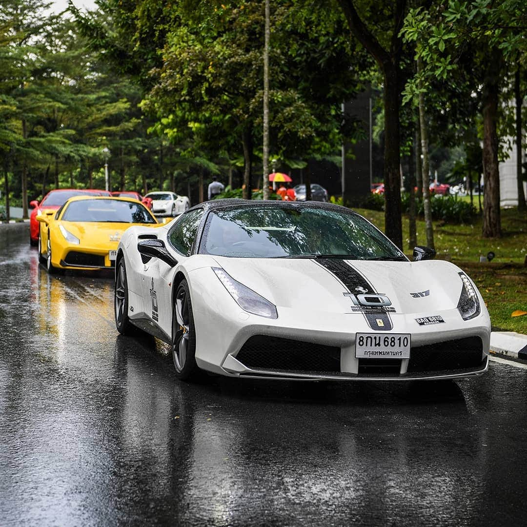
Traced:
<path fill-rule="evenodd" d="M 212 211 L 200 251 L 239 258 L 345 257 L 405 260 L 358 214 L 316 207 L 246 207 Z"/>

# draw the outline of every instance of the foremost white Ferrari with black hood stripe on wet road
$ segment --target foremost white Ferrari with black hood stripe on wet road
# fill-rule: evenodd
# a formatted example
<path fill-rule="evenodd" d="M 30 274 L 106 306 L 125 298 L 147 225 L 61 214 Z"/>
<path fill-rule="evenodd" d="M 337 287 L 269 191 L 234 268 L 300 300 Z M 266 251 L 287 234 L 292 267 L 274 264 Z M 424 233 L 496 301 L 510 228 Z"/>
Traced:
<path fill-rule="evenodd" d="M 414 261 L 329 203 L 213 200 L 133 226 L 115 262 L 115 324 L 172 347 L 181 379 L 452 379 L 484 373 L 490 319 L 434 251 Z"/>

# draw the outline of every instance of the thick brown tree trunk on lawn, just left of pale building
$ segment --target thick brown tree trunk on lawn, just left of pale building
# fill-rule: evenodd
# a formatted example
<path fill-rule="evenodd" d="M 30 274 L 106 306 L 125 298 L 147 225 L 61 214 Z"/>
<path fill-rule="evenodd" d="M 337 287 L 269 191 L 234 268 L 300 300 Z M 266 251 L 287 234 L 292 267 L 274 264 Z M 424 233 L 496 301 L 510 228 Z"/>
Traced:
<path fill-rule="evenodd" d="M 497 160 L 497 110 L 501 51 L 492 49 L 483 82 L 483 237 L 501 236 L 500 172 Z"/>

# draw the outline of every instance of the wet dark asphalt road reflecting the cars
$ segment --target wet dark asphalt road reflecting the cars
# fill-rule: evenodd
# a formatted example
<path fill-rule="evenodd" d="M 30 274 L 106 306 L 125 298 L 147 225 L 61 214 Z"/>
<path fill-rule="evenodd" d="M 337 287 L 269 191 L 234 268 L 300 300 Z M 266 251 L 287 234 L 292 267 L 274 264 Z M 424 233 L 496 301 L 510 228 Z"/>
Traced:
<path fill-rule="evenodd" d="M 425 384 L 175 379 L 108 275 L 0 225 L 0 525 L 524 525 L 527 369 Z"/>

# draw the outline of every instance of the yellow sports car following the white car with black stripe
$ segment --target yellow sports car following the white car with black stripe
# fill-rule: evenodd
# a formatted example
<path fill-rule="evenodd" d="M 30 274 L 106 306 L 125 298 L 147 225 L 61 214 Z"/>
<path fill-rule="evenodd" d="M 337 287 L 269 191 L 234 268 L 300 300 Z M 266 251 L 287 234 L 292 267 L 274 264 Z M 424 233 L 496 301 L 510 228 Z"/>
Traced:
<path fill-rule="evenodd" d="M 40 222 L 38 259 L 50 274 L 64 269 L 109 269 L 117 246 L 131 225 L 153 227 L 153 214 L 138 200 L 77 196 L 58 210 L 44 210 Z"/>

